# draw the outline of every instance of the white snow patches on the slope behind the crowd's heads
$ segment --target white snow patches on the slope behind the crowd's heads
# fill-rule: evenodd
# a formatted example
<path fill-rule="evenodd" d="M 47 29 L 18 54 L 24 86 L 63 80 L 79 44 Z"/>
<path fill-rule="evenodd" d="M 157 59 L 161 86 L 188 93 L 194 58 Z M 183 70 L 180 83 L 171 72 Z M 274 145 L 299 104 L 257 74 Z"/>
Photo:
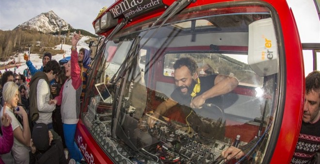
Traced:
<path fill-rule="evenodd" d="M 79 40 L 78 45 L 77 45 L 78 52 L 79 52 L 80 48 L 86 48 L 86 49 L 89 50 L 89 45 L 84 42 L 84 41 L 86 41 L 88 39 L 89 39 L 89 37 L 86 37 L 86 36 L 82 36 L 81 37 L 81 39 Z M 61 44 L 55 46 L 53 49 L 61 50 Z M 63 55 L 64 55 L 64 57 L 67 57 L 67 56 L 71 55 L 71 45 L 62 44 L 62 50 L 64 50 L 64 54 L 53 55 L 51 59 L 52 60 L 57 60 L 59 62 L 59 60 L 63 59 Z M 28 51 L 23 52 L 23 53 L 19 53 L 18 55 L 16 55 L 16 57 L 14 57 L 15 60 L 16 60 L 16 63 L 18 63 L 18 61 L 21 62 L 21 66 L 19 66 L 16 69 L 16 73 L 20 72 L 21 74 L 23 74 L 23 70 L 27 68 L 26 61 L 23 59 L 24 53 L 28 54 Z M 30 54 L 30 60 L 31 60 L 33 66 L 37 67 L 38 69 L 41 68 L 41 66 L 42 66 L 42 58 L 39 58 L 39 57 L 40 57 L 40 54 Z M 12 61 L 12 60 L 13 59 L 10 59 L 10 61 Z M 9 61 L 0 62 L 0 65 L 8 64 L 8 63 L 9 63 Z M 15 68 L 7 68 L 7 69 L 11 70 L 11 71 L 15 70 Z M 5 68 L 1 67 L 0 71 L 3 73 L 5 71 Z"/>

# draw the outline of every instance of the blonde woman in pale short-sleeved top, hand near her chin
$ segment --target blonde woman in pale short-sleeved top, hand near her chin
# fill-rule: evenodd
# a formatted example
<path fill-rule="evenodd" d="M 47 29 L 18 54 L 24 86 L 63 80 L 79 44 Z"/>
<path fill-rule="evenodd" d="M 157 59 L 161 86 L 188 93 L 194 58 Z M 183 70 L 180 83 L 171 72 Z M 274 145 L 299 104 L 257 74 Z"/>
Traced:
<path fill-rule="evenodd" d="M 18 104 L 18 86 L 15 82 L 6 82 L 3 86 L 3 107 L 0 111 L 0 117 L 3 113 L 8 113 L 12 119 L 12 129 L 14 134 L 14 144 L 11 149 L 15 164 L 29 164 L 29 145 L 31 139 L 29 121 L 27 112 L 20 106 L 19 110 L 16 111 L 15 107 Z M 23 126 L 16 119 L 15 114 L 22 117 Z"/>

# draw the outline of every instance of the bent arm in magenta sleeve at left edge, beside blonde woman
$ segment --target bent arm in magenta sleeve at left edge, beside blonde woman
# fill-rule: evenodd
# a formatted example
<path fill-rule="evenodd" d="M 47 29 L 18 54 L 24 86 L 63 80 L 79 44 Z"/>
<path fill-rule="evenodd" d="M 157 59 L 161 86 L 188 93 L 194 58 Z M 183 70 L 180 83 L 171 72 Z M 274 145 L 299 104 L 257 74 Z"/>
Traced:
<path fill-rule="evenodd" d="M 5 154 L 10 152 L 13 146 L 13 132 L 11 126 L 11 117 L 8 113 L 4 113 L 1 117 L 1 129 L 3 136 L 0 137 L 0 154 Z M 4 164 L 2 159 L 0 158 L 0 164 Z"/>

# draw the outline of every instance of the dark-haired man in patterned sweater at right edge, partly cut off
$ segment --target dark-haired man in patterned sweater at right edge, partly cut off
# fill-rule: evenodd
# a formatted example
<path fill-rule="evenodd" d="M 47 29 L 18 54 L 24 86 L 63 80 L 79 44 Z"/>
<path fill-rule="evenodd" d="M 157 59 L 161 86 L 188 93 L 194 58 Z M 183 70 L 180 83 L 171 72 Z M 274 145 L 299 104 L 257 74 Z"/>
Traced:
<path fill-rule="evenodd" d="M 305 78 L 304 115 L 292 164 L 308 164 L 320 152 L 320 71 Z M 319 157 L 318 157 L 319 158 Z"/>

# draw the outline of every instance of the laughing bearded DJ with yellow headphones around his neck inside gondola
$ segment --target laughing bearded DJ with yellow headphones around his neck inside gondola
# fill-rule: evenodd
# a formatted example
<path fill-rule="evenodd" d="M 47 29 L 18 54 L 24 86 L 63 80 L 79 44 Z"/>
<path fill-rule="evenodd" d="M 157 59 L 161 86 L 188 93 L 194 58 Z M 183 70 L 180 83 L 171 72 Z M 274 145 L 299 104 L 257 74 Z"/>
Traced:
<path fill-rule="evenodd" d="M 198 77 L 196 62 L 189 58 L 184 57 L 176 60 L 174 64 L 174 77 L 176 89 L 171 94 L 170 98 L 163 101 L 154 112 L 153 117 L 159 118 L 167 112 L 168 109 L 176 106 L 191 107 L 197 110 L 196 113 L 202 112 L 202 106 L 205 103 L 215 104 L 221 103 L 221 95 L 229 93 L 238 86 L 237 78 L 227 75 L 212 74 L 205 77 Z M 188 113 L 185 113 L 188 114 Z M 210 110 L 207 114 L 220 114 L 219 110 Z M 152 117 L 147 121 L 149 127 L 153 127 L 156 120 Z"/>

